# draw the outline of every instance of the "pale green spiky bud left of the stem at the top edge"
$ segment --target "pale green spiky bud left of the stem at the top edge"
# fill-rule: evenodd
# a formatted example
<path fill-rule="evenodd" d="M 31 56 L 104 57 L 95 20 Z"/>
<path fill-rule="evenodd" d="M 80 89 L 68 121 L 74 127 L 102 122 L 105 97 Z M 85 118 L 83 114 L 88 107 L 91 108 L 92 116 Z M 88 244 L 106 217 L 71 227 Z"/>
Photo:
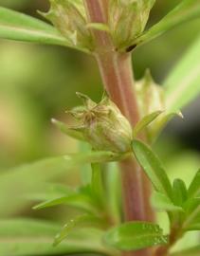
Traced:
<path fill-rule="evenodd" d="M 82 0 L 50 0 L 51 8 L 44 16 L 64 35 L 68 44 L 86 50 L 93 48 Z"/>

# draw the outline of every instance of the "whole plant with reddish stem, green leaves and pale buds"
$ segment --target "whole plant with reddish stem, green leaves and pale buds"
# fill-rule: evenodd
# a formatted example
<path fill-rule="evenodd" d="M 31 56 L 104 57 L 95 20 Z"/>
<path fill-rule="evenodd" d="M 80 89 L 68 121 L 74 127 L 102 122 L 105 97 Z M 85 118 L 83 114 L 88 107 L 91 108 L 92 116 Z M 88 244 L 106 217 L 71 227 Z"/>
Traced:
<path fill-rule="evenodd" d="M 25 222 L 27 236 L 35 227 L 41 237 L 58 232 L 56 247 L 50 241 L 37 247 L 29 240 L 28 245 L 18 243 L 16 249 L 4 244 L 2 255 L 199 255 L 197 247 L 183 252 L 171 248 L 185 232 L 200 229 L 200 174 L 189 188 L 181 179 L 172 184 L 151 149 L 168 120 L 181 116 L 179 110 L 198 93 L 195 81 L 199 73 L 191 72 L 185 83 L 170 77 L 161 89 L 149 70 L 135 81 L 131 58 L 137 46 L 200 17 L 200 1 L 180 1 L 157 24 L 145 29 L 154 5 L 155 0 L 50 0 L 50 10 L 41 14 L 53 26 L 0 8 L 2 38 L 68 46 L 90 54 L 97 60 L 106 92 L 99 103 L 78 93 L 83 104 L 69 111 L 77 121 L 73 127 L 53 119 L 67 136 L 91 145 L 90 152 L 62 158 L 66 169 L 91 165 L 90 182 L 76 190 L 58 190 L 58 198 L 34 207 L 70 205 L 81 209 L 80 215 L 59 232 L 56 226 Z M 196 48 L 200 50 L 199 42 L 192 52 Z M 112 161 L 118 162 L 116 172 L 111 172 Z M 102 172 L 105 166 L 107 170 Z M 155 210 L 167 212 L 169 233 L 156 224 Z"/>

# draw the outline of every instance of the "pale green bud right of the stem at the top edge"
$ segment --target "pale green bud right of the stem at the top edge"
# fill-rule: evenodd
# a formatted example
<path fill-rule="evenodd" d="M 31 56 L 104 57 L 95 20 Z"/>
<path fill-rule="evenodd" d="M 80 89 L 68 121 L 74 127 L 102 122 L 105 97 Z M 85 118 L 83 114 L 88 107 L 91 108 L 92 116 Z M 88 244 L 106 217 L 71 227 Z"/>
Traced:
<path fill-rule="evenodd" d="M 155 0 L 110 0 L 109 27 L 118 49 L 134 44 L 143 32 L 154 4 Z"/>

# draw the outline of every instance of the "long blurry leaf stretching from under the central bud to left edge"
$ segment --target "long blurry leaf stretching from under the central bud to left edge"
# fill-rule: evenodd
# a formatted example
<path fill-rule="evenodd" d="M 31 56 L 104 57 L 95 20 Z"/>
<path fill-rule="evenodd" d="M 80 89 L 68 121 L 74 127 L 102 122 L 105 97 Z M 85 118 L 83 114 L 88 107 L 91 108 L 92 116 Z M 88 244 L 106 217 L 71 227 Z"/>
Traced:
<path fill-rule="evenodd" d="M 0 205 L 6 206 L 0 208 L 1 216 L 22 210 L 29 203 L 26 195 L 41 191 L 44 182 L 64 177 L 68 170 L 82 164 L 117 160 L 116 157 L 116 154 L 110 152 L 62 155 L 24 164 L 0 174 Z"/>

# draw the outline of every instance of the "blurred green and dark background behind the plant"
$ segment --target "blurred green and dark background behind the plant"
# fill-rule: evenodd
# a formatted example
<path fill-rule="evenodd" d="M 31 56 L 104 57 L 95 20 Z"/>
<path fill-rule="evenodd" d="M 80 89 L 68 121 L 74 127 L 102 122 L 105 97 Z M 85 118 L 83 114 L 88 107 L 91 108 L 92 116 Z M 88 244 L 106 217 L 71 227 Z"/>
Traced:
<path fill-rule="evenodd" d="M 150 24 L 179 2 L 157 0 Z M 47 0 L 0 0 L 0 6 L 38 18 L 41 17 L 37 9 L 49 8 Z M 155 81 L 162 84 L 173 65 L 200 35 L 199 27 L 200 20 L 191 21 L 138 47 L 133 55 L 136 79 L 150 67 Z M 100 74 L 90 56 L 61 46 L 0 40 L 0 203 L 3 204 L 0 217 L 31 215 L 61 219 L 64 215 L 61 208 L 32 212 L 29 204 L 13 206 L 19 183 L 17 177 L 11 175 L 10 178 L 9 170 L 43 157 L 77 152 L 76 141 L 65 137 L 50 122 L 51 118 L 67 121 L 65 110 L 80 103 L 76 91 L 100 100 Z M 199 100 L 197 98 L 183 110 L 184 120 L 173 119 L 155 144 L 171 178 L 181 177 L 187 184 L 200 167 Z M 23 180 L 22 175 L 22 184 L 26 179 L 28 177 Z M 76 172 L 66 176 L 65 181 L 76 183 Z M 161 222 L 164 223 L 162 218 Z M 187 243 L 189 241 L 198 243 L 198 236 L 195 239 L 189 236 Z"/>

